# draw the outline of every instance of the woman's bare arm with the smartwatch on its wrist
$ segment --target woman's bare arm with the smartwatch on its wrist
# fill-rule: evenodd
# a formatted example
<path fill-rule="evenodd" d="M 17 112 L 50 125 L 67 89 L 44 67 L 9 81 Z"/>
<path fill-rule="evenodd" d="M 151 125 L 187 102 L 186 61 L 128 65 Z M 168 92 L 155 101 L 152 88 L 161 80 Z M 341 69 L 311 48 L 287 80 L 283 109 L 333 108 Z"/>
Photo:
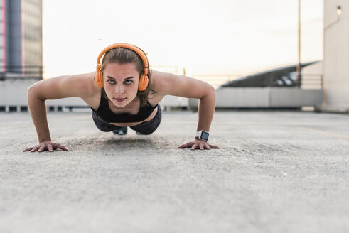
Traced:
<path fill-rule="evenodd" d="M 215 88 L 206 82 L 196 80 L 183 75 L 173 75 L 165 72 L 153 71 L 154 90 L 159 91 L 161 96 L 174 95 L 178 97 L 199 99 L 197 131 L 210 131 L 210 126 L 215 113 Z M 206 141 L 195 137 L 194 141 L 183 144 L 179 148 L 190 147 L 210 149 L 219 148 L 210 145 Z"/>

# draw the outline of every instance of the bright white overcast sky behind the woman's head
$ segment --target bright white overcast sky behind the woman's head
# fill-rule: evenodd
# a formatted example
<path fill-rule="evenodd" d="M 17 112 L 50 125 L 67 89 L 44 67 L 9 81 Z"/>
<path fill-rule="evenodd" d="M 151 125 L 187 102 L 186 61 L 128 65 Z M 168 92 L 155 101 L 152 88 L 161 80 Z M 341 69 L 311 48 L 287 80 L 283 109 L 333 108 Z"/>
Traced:
<path fill-rule="evenodd" d="M 323 0 L 301 0 L 302 62 L 323 57 Z M 112 43 L 188 75 L 297 63 L 298 0 L 43 0 L 45 77 L 90 72 Z M 102 39 L 102 40 L 98 40 Z"/>

